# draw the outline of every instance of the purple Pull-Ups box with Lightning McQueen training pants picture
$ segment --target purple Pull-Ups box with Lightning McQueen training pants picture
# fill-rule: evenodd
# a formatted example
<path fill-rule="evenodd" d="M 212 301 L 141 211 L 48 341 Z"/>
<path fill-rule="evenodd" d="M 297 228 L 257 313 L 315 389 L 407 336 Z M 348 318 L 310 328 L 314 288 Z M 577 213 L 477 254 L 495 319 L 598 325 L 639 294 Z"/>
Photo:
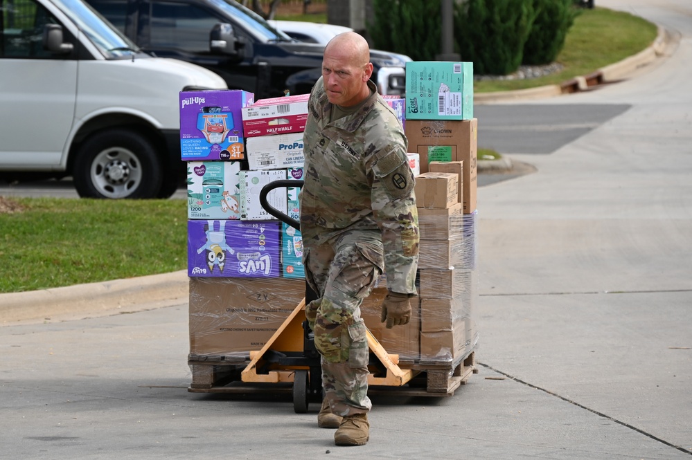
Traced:
<path fill-rule="evenodd" d="M 242 90 L 180 92 L 180 152 L 190 160 L 242 160 L 241 109 L 254 101 Z"/>

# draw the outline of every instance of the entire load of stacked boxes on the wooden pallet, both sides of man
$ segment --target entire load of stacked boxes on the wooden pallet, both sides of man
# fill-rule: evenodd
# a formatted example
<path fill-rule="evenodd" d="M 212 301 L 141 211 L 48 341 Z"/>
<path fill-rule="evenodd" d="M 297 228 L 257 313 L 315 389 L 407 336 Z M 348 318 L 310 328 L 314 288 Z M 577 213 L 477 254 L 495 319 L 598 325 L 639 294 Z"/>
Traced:
<path fill-rule="evenodd" d="M 418 300 L 409 324 L 387 329 L 386 275 L 361 307 L 373 336 L 400 365 L 456 365 L 475 326 L 477 120 L 472 64 L 407 63 L 407 98 L 385 98 L 409 142 L 420 223 Z M 245 91 L 181 93 L 188 161 L 190 360 L 247 358 L 305 295 L 298 230 L 259 204 L 263 185 L 303 178 L 308 95 L 253 100 Z M 269 204 L 299 220 L 299 188 Z M 302 343 L 295 344 L 301 348 Z"/>

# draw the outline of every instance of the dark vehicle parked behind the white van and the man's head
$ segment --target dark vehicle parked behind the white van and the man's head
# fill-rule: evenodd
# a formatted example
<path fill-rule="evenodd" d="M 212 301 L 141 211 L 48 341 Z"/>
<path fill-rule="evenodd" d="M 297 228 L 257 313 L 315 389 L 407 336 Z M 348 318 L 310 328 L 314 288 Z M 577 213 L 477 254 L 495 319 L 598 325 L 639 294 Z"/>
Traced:
<path fill-rule="evenodd" d="M 233 0 L 87 0 L 143 50 L 209 68 L 255 100 L 309 93 L 324 47 L 298 42 Z M 402 95 L 405 61 L 372 50 L 380 93 Z"/>

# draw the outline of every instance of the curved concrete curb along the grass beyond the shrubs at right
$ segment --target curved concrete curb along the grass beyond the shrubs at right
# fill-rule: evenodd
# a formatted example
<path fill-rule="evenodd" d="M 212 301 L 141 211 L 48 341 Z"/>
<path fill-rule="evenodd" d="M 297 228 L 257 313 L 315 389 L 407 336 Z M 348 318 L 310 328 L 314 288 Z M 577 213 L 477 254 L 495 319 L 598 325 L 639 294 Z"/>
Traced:
<path fill-rule="evenodd" d="M 658 27 L 657 37 L 650 46 L 636 55 L 599 68 L 594 73 L 575 77 L 562 84 L 550 84 L 538 88 L 517 89 L 515 91 L 497 91 L 495 93 L 477 93 L 473 95 L 474 104 L 487 104 L 492 102 L 506 102 L 511 100 L 531 100 L 551 98 L 565 93 L 586 91 L 591 86 L 603 83 L 611 83 L 622 80 L 637 69 L 647 66 L 664 54 L 668 42 L 668 33 L 661 26 Z"/>

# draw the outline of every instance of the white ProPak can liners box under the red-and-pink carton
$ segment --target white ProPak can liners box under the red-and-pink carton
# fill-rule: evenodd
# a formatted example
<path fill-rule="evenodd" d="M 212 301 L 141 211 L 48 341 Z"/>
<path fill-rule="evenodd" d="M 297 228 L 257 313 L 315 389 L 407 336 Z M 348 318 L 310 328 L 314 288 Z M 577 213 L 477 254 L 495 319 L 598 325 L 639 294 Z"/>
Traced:
<path fill-rule="evenodd" d="M 249 138 L 246 142 L 249 169 L 303 167 L 303 133 Z"/>

